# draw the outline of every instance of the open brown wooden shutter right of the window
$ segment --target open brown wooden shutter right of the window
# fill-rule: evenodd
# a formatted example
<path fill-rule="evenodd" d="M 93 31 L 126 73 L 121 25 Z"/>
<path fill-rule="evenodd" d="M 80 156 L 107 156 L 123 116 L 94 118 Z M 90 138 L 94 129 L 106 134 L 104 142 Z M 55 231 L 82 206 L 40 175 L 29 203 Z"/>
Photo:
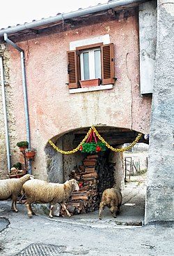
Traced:
<path fill-rule="evenodd" d="M 102 85 L 115 83 L 113 43 L 101 45 L 102 50 Z"/>

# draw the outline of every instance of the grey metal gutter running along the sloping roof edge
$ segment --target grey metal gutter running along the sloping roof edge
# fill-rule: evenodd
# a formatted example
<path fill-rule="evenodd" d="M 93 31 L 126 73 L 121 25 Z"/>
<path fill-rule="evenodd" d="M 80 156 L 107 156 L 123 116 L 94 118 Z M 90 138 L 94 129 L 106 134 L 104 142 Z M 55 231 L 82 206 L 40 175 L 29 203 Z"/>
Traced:
<path fill-rule="evenodd" d="M 60 15 L 56 15 L 54 17 L 49 17 L 49 18 L 45 18 L 45 19 L 38 20 L 35 22 L 17 25 L 16 27 L 1 29 L 0 36 L 3 36 L 4 33 L 7 33 L 9 35 L 9 34 L 17 33 L 19 31 L 26 30 L 26 29 L 34 29 L 35 27 L 39 27 L 39 26 L 42 26 L 45 24 L 64 21 L 64 20 L 72 19 L 74 17 L 88 15 L 91 13 L 97 13 L 102 10 L 109 10 L 111 8 L 116 8 L 119 6 L 127 6 L 128 4 L 131 4 L 131 3 L 138 4 L 141 2 L 143 2 L 143 0 L 118 0 L 118 1 L 111 1 L 111 2 L 109 1 L 109 3 L 98 4 L 97 6 L 92 6 L 89 8 L 82 9 L 82 10 L 76 10 L 76 11 L 73 11 L 70 13 L 61 13 Z"/>

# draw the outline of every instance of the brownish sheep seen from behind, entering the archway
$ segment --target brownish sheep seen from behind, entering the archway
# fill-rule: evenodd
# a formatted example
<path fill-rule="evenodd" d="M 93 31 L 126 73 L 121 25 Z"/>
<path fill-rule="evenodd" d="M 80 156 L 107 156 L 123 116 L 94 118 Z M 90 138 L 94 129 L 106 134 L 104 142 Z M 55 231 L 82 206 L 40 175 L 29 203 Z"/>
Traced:
<path fill-rule="evenodd" d="M 120 189 L 112 187 L 104 190 L 104 192 L 102 193 L 102 200 L 100 202 L 99 219 L 102 220 L 102 213 L 105 206 L 110 209 L 113 218 L 116 218 L 116 214 L 120 212 L 121 204 L 122 194 L 120 192 Z"/>

